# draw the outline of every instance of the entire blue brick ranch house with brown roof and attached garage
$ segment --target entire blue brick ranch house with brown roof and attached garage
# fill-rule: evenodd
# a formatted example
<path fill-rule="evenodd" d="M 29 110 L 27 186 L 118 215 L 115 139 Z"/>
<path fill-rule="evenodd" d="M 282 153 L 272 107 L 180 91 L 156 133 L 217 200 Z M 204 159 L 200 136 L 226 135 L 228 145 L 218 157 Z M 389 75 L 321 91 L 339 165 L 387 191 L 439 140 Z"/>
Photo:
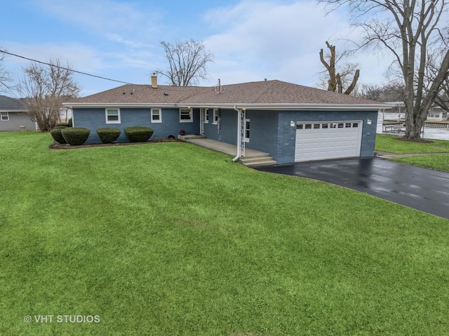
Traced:
<path fill-rule="evenodd" d="M 216 87 L 125 85 L 74 102 L 75 127 L 149 126 L 154 138 L 186 134 L 269 153 L 277 163 L 373 156 L 380 102 L 283 81 Z"/>

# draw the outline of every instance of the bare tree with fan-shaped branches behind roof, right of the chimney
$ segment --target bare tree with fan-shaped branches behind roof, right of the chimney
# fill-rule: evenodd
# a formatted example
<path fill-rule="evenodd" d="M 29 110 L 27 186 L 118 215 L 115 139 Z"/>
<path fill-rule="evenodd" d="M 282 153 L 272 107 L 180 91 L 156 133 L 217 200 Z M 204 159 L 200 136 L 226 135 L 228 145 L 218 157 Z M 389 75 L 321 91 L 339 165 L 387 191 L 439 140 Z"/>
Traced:
<path fill-rule="evenodd" d="M 176 41 L 174 44 L 161 41 L 169 68 L 157 70 L 157 74 L 167 77 L 170 85 L 192 86 L 199 79 L 206 79 L 206 65 L 213 61 L 213 55 L 206 51 L 203 41 Z"/>

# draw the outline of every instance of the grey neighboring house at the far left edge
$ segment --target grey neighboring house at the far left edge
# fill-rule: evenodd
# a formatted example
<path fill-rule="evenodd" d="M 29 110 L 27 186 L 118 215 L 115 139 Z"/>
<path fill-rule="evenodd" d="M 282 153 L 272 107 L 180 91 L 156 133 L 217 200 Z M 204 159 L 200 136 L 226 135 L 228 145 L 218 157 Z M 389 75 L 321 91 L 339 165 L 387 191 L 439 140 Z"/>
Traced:
<path fill-rule="evenodd" d="M 20 99 L 0 95 L 0 131 L 36 130 L 36 123 L 27 114 L 25 103 Z"/>

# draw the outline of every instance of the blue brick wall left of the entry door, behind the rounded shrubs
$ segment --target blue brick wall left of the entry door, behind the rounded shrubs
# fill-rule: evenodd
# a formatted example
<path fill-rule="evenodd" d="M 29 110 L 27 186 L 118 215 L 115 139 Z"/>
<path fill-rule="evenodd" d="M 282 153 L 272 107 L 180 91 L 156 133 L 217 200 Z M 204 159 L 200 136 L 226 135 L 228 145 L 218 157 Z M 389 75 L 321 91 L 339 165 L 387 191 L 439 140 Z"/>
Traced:
<path fill-rule="evenodd" d="M 151 122 L 151 110 L 149 108 L 121 108 L 121 123 L 106 123 L 104 108 L 74 109 L 73 122 L 75 127 L 85 127 L 91 130 L 86 143 L 101 143 L 97 135 L 97 128 L 112 127 L 119 128 L 121 135 L 116 142 L 128 142 L 128 138 L 123 128 L 130 126 L 148 126 L 153 128 L 154 133 L 151 139 L 159 139 L 173 135 L 177 137 L 180 130 L 185 130 L 187 134 L 199 133 L 199 109 L 194 109 L 192 123 L 180 123 L 179 109 L 161 109 L 161 123 Z"/>

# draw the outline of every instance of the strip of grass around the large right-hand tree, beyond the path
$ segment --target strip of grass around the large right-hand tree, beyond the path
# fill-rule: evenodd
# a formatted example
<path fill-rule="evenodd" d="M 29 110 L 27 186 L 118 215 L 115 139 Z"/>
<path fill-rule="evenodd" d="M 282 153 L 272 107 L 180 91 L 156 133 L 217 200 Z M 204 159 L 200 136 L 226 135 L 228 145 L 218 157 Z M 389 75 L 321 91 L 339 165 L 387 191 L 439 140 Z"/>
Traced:
<path fill-rule="evenodd" d="M 376 150 L 381 152 L 408 153 L 449 153 L 449 141 L 431 139 L 431 143 L 398 141 L 397 135 L 376 135 Z"/>

